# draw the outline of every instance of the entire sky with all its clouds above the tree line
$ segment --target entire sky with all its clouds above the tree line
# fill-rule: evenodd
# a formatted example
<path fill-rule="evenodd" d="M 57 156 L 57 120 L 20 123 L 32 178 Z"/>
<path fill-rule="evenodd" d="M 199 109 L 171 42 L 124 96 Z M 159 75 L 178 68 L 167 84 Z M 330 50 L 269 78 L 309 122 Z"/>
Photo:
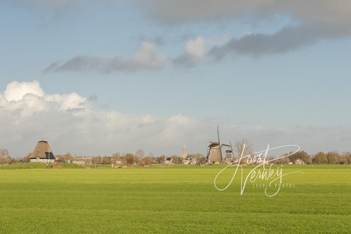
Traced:
<path fill-rule="evenodd" d="M 351 151 L 348 0 L 4 0 L 0 148 Z M 279 153 L 272 153 L 278 156 Z"/>

